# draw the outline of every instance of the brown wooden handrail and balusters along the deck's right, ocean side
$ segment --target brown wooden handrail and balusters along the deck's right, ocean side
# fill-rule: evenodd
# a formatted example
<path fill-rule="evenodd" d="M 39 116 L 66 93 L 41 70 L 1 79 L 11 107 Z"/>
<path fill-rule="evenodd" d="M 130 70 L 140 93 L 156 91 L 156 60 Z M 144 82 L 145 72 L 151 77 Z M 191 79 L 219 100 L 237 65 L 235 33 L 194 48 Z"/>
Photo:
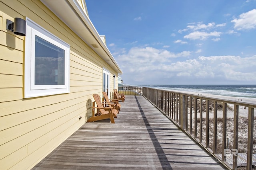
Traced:
<path fill-rule="evenodd" d="M 239 106 L 248 107 L 248 142 L 247 142 L 247 170 L 252 169 L 252 151 L 253 151 L 253 126 L 254 126 L 254 109 L 256 104 L 226 100 L 221 98 L 213 98 L 206 96 L 197 96 L 194 94 L 184 93 L 184 92 L 174 92 L 169 90 L 161 90 L 156 88 L 142 88 L 143 96 L 148 99 L 154 106 L 156 106 L 162 113 L 164 113 L 169 119 L 171 119 L 177 126 L 179 126 L 185 133 L 190 135 L 197 141 L 199 145 L 204 147 L 208 152 L 214 155 L 218 161 L 222 162 L 230 169 L 237 169 L 238 166 L 238 118 L 239 118 Z M 203 101 L 206 102 L 206 125 L 203 127 Z M 209 102 L 214 103 L 214 116 L 213 116 L 213 147 L 210 149 L 209 140 Z M 194 102 L 194 118 L 192 118 L 192 102 Z M 192 126 L 192 119 L 194 122 L 198 121 L 198 109 L 197 103 L 199 102 L 199 136 L 198 136 L 198 123 L 194 123 Z M 222 156 L 217 153 L 217 106 L 222 104 Z M 227 106 L 234 105 L 234 129 L 233 129 L 233 148 L 227 148 Z M 189 115 L 189 117 L 188 117 Z M 188 122 L 189 120 L 189 122 Z M 202 129 L 206 128 L 206 141 L 205 144 L 202 141 L 203 132 Z M 194 131 L 194 134 L 192 134 Z M 227 151 L 233 154 L 232 165 L 228 164 L 226 161 Z"/>

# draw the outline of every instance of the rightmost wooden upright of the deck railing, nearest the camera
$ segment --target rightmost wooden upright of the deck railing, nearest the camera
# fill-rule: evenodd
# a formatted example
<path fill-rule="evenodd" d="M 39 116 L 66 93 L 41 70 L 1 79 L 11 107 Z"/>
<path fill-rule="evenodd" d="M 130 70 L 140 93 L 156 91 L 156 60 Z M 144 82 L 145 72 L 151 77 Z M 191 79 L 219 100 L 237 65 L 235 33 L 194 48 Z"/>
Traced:
<path fill-rule="evenodd" d="M 253 119 L 254 108 L 248 108 L 248 144 L 247 144 L 247 165 L 246 169 L 252 168 L 252 150 L 253 150 Z"/>

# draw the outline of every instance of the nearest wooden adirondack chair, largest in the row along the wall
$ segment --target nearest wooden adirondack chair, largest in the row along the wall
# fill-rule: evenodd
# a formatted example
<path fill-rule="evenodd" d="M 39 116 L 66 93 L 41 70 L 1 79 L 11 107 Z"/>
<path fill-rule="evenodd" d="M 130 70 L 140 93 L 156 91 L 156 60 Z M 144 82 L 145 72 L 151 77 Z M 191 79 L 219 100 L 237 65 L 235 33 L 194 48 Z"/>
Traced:
<path fill-rule="evenodd" d="M 99 121 L 103 119 L 110 118 L 111 123 L 115 123 L 114 117 L 118 114 L 118 110 L 114 109 L 114 107 L 103 107 L 102 101 L 100 100 L 100 96 L 98 94 L 92 95 L 95 102 L 92 104 L 92 117 L 88 119 L 88 122 Z M 95 103 L 97 107 L 95 107 Z M 95 109 L 97 109 L 97 113 L 95 113 Z"/>

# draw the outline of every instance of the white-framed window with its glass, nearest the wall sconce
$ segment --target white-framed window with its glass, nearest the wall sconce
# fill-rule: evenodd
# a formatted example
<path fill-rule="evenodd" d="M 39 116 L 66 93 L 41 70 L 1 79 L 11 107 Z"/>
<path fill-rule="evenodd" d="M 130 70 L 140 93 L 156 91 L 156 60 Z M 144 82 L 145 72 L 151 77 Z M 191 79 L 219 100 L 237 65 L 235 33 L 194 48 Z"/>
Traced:
<path fill-rule="evenodd" d="M 69 92 L 70 46 L 26 18 L 24 97 Z"/>

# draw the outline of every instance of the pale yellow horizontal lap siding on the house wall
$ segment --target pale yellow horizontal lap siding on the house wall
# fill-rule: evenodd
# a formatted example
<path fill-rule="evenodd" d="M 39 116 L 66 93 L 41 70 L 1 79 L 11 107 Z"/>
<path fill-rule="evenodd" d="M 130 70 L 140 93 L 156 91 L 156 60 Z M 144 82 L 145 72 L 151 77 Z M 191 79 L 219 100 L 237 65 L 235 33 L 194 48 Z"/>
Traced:
<path fill-rule="evenodd" d="M 0 1 L 0 165 L 32 168 L 86 122 L 92 94 L 102 92 L 102 67 L 114 70 L 39 0 Z M 69 94 L 23 99 L 24 37 L 5 27 L 25 16 L 70 44 Z"/>

